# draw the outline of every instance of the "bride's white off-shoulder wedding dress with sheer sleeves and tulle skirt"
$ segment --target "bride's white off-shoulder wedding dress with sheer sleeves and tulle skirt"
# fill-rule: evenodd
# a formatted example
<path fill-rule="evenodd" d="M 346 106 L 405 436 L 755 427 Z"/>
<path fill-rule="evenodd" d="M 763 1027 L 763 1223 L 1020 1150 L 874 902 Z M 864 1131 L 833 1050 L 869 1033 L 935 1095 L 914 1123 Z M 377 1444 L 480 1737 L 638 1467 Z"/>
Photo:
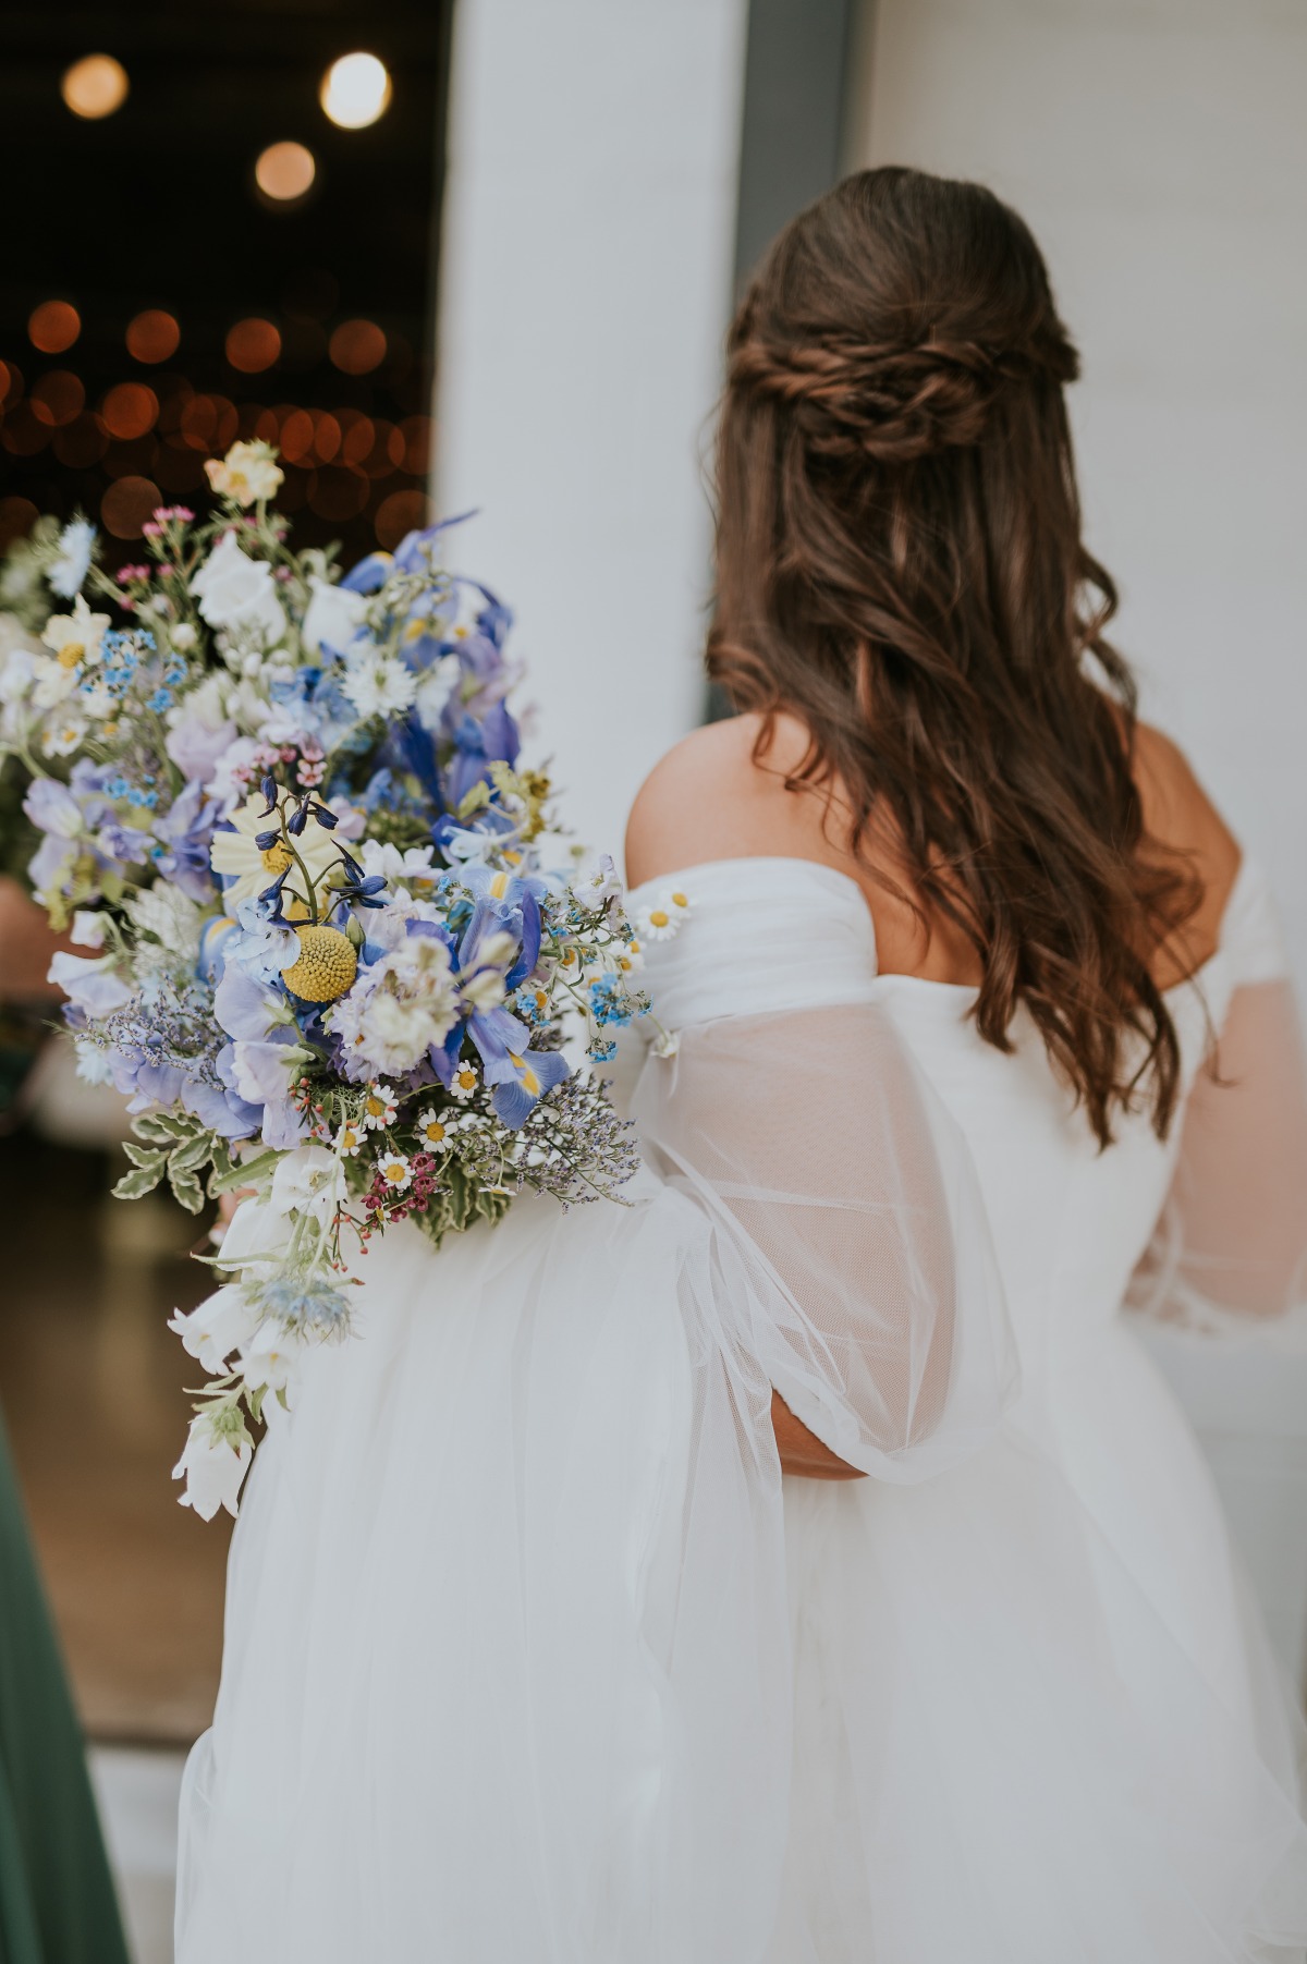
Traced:
<path fill-rule="evenodd" d="M 1123 1312 L 1301 1294 L 1256 872 L 1105 1153 L 844 876 L 675 884 L 632 1204 L 389 1235 L 259 1451 L 179 1964 L 1301 1960 L 1297 1720 Z M 781 1481 L 773 1385 L 869 1477 Z"/>

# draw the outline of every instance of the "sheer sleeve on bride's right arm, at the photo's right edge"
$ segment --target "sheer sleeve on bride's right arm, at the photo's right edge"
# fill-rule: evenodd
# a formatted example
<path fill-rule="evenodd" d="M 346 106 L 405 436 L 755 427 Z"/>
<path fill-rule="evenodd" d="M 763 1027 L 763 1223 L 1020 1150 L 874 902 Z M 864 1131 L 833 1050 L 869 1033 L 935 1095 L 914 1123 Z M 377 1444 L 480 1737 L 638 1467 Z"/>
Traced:
<path fill-rule="evenodd" d="M 1168 1204 L 1128 1300 L 1213 1334 L 1278 1320 L 1278 1337 L 1297 1347 L 1307 1339 L 1307 1068 L 1256 868 L 1230 898 L 1221 958 L 1232 976 L 1229 1004 L 1189 1094 Z"/>

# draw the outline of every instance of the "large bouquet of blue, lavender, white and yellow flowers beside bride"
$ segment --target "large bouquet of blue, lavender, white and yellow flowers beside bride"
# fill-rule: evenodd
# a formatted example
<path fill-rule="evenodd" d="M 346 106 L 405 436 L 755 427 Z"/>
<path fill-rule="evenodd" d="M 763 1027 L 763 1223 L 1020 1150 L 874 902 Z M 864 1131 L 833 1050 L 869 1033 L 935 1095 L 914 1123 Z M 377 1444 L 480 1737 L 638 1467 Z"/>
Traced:
<path fill-rule="evenodd" d="M 612 862 L 544 866 L 510 615 L 442 568 L 447 528 L 338 579 L 290 550 L 273 450 L 208 473 L 216 517 L 157 511 L 116 577 L 88 524 L 45 536 L 73 605 L 0 656 L 31 886 L 88 951 L 51 980 L 80 1072 L 130 1096 L 116 1192 L 253 1194 L 171 1324 L 210 1373 L 177 1467 L 204 1518 L 235 1512 L 247 1418 L 347 1332 L 371 1235 L 618 1194 L 636 1153 L 589 1066 L 650 1008 Z"/>

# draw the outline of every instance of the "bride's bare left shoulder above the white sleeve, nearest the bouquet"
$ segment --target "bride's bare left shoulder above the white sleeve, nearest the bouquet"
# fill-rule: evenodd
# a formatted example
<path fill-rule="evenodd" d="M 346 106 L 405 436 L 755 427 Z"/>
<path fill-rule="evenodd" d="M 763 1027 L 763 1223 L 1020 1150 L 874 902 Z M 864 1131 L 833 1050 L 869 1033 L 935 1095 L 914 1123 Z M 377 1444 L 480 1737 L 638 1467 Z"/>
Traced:
<path fill-rule="evenodd" d="M 793 850 L 793 797 L 785 774 L 807 748 L 803 727 L 777 717 L 765 756 L 763 719 L 705 723 L 654 766 L 626 825 L 626 878 L 632 886 L 716 858 Z M 803 799 L 803 803 L 810 803 Z"/>

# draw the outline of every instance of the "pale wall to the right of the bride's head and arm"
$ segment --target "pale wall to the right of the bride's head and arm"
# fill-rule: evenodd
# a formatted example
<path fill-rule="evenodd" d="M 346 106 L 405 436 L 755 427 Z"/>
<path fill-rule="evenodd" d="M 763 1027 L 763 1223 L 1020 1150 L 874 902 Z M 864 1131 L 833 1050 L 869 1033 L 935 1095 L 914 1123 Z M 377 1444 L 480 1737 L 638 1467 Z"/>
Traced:
<path fill-rule="evenodd" d="M 850 163 L 981 179 L 1044 246 L 1117 640 L 1270 862 L 1307 982 L 1307 4 L 879 0 L 865 41 Z M 1301 1665 L 1307 1363 L 1154 1347 Z"/>

